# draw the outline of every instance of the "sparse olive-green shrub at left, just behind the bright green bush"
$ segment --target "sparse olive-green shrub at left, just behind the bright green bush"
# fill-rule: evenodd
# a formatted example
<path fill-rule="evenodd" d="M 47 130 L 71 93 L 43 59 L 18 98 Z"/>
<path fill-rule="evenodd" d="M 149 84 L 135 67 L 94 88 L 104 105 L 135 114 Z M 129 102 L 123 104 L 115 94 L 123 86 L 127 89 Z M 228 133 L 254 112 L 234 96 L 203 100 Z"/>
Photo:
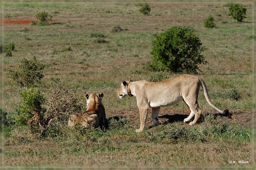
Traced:
<path fill-rule="evenodd" d="M 44 65 L 36 60 L 27 60 L 23 58 L 20 61 L 19 69 L 10 70 L 8 77 L 13 81 L 20 83 L 20 85 L 31 87 L 35 81 L 40 83 L 40 80 L 44 77 Z"/>

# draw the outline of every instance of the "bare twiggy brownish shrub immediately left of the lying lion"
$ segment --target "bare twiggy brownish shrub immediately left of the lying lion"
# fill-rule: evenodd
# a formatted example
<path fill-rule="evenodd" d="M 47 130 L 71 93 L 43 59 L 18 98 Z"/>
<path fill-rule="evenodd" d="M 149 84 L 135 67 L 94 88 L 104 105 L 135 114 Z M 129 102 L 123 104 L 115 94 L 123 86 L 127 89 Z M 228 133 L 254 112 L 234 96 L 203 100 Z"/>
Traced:
<path fill-rule="evenodd" d="M 62 127 L 68 124 L 69 115 L 78 115 L 83 109 L 82 100 L 78 100 L 76 91 L 72 89 L 72 86 L 61 85 L 58 78 L 51 78 L 51 80 L 52 94 L 49 99 L 50 105 L 44 117 L 45 124 L 41 132 L 43 136 L 62 134 Z"/>

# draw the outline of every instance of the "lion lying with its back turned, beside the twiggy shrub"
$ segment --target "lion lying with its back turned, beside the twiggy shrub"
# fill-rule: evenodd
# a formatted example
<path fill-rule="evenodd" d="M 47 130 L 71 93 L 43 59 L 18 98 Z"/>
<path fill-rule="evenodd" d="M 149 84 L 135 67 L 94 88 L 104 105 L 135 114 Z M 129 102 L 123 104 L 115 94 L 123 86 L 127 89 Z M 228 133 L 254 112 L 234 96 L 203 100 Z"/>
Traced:
<path fill-rule="evenodd" d="M 101 102 L 103 93 L 91 95 L 86 94 L 87 110 L 85 113 L 76 115 L 70 115 L 68 120 L 68 126 L 74 126 L 75 122 L 81 123 L 85 128 L 99 126 L 102 127 L 107 122 L 105 108 Z"/>

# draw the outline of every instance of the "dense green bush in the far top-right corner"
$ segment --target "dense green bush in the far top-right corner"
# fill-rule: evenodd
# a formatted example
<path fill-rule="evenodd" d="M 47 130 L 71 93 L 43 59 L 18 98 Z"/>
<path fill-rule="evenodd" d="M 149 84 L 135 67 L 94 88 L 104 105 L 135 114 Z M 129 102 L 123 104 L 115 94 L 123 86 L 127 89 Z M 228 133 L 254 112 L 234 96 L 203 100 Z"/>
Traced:
<path fill-rule="evenodd" d="M 243 8 L 242 5 L 229 5 L 229 16 L 232 16 L 238 22 L 242 22 L 246 18 L 246 8 Z"/>

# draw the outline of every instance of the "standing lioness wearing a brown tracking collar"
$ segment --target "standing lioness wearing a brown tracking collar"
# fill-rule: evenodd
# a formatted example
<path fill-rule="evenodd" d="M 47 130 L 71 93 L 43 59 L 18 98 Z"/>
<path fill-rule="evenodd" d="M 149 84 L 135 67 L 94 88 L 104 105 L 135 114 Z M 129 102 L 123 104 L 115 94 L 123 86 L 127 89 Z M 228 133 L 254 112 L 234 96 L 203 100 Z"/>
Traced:
<path fill-rule="evenodd" d="M 136 96 L 140 110 L 140 129 L 137 129 L 136 132 L 141 132 L 145 127 L 149 107 L 152 108 L 152 121 L 154 125 L 157 125 L 161 124 L 157 118 L 160 107 L 171 106 L 181 100 L 191 110 L 190 115 L 184 119 L 184 122 L 190 121 L 195 115 L 194 121 L 189 123 L 189 125 L 194 125 L 201 115 L 197 102 L 200 85 L 203 87 L 207 102 L 221 114 L 228 114 L 228 109 L 220 110 L 212 104 L 203 79 L 195 75 L 184 74 L 160 82 L 150 82 L 148 80 L 123 81 L 117 94 L 120 99 L 127 95 L 130 97 Z"/>

